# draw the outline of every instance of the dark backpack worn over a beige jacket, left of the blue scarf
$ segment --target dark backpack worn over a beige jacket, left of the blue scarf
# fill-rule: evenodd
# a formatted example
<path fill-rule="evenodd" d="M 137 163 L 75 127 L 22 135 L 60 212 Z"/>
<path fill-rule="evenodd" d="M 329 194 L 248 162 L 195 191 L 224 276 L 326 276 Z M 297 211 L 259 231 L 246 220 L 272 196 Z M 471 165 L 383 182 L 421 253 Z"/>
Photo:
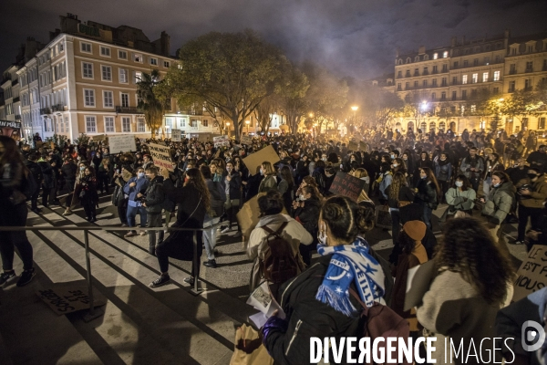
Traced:
<path fill-rule="evenodd" d="M 284 222 L 275 232 L 265 225 L 262 227 L 269 234 L 266 242 L 270 248 L 262 262 L 263 276 L 274 284 L 283 284 L 300 274 L 304 268 L 298 262 L 298 254 L 293 254 L 291 244 L 281 236 L 287 224 Z"/>

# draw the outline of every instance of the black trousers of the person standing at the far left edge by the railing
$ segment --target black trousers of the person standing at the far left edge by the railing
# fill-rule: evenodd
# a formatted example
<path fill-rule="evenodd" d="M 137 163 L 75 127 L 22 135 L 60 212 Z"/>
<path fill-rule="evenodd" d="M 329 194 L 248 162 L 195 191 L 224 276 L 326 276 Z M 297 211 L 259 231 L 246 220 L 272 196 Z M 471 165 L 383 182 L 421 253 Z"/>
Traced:
<path fill-rule="evenodd" d="M 20 203 L 13 207 L 15 215 L 15 225 L 26 225 L 26 203 Z M 5 232 L 0 240 L 0 256 L 2 256 L 2 268 L 4 271 L 11 271 L 14 268 L 15 247 L 19 251 L 21 260 L 23 261 L 23 269 L 30 270 L 33 267 L 33 250 L 32 245 L 26 238 L 26 231 Z"/>

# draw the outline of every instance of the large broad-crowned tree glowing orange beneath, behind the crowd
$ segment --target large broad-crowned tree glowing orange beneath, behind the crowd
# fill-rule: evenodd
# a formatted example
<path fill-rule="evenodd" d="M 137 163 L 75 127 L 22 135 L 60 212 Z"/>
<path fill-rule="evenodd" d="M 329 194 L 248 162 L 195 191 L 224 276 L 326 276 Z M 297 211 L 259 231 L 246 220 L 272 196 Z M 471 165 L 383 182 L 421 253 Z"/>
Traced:
<path fill-rule="evenodd" d="M 236 140 L 244 121 L 274 93 L 288 62 L 281 51 L 256 33 L 212 32 L 181 47 L 181 65 L 167 82 L 181 105 L 198 102 L 232 120 Z"/>

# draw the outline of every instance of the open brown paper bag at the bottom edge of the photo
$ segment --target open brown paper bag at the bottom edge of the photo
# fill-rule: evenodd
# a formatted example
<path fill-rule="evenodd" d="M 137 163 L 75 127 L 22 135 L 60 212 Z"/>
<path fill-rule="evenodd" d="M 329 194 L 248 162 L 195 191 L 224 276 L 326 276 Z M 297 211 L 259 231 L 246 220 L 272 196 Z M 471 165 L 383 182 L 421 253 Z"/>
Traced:
<path fill-rule="evenodd" d="M 273 365 L 274 359 L 262 343 L 258 331 L 243 323 L 235 331 L 235 342 L 230 365 Z"/>

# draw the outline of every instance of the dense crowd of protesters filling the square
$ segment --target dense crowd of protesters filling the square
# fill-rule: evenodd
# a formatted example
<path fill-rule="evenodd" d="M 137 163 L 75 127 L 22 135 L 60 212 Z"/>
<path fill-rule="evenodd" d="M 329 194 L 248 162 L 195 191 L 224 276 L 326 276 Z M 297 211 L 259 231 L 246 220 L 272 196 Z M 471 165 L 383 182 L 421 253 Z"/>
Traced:
<path fill-rule="evenodd" d="M 289 314 L 262 328 L 263 344 L 277 363 L 307 362 L 310 336 L 355 335 L 361 302 L 392 308 L 408 319 L 414 337 L 422 328 L 465 341 L 495 337 L 495 316 L 511 301 L 515 272 L 504 225 L 518 224 L 509 244 L 547 245 L 547 146 L 533 131 L 368 130 L 358 137 L 256 136 L 250 145 L 231 141 L 224 147 L 198 139 L 166 141 L 168 170 L 154 165 L 150 140 L 137 140 L 136 152 L 109 153 L 106 142 L 36 149 L 0 136 L 0 199 L 15 212 L 2 209 L 0 224 L 25 225 L 26 202 L 36 214 L 62 204 L 69 215 L 79 204 L 94 223 L 99 197 L 112 193 L 119 224 L 128 227 L 124 237 L 148 234 L 161 272 L 150 287 L 160 287 L 170 283 L 169 257 L 193 257 L 191 231 L 170 227 L 203 229 L 198 256 L 205 248 L 203 266 L 215 268 L 219 235 L 241 237 L 237 214 L 257 199 L 259 222 L 246 242 L 253 260 L 250 290 L 268 280 Z M 250 171 L 245 157 L 269 145 L 279 161 Z M 363 182 L 356 201 L 330 192 L 338 172 Z M 63 194 L 67 199 L 59 200 Z M 433 212 L 441 204 L 437 222 Z M 394 248 L 387 259 L 366 240 L 378 207 L 391 217 Z M 150 227 L 165 233 L 147 232 Z M 26 234 L 0 235 L 0 285 L 15 277 L 15 247 L 24 262 L 17 285 L 26 285 L 34 276 Z M 315 251 L 319 258 L 312 260 Z M 408 269 L 429 260 L 437 275 L 422 303 L 405 311 Z M 194 284 L 199 270 L 192 267 L 185 281 Z"/>

